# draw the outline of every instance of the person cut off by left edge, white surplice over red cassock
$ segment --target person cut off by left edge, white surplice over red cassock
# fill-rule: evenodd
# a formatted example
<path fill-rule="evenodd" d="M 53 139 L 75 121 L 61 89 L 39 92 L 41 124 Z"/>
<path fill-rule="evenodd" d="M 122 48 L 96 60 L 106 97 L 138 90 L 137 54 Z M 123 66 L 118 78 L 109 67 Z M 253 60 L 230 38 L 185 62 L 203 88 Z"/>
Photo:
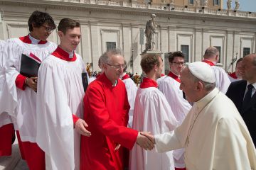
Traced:
<path fill-rule="evenodd" d="M 0 40 L 0 96 L 6 94 L 5 69 L 3 65 L 3 51 L 5 41 Z M 0 102 L 0 157 L 11 155 L 11 145 L 15 139 L 14 125 L 11 122 L 10 115 L 6 112 L 4 102 Z"/>

